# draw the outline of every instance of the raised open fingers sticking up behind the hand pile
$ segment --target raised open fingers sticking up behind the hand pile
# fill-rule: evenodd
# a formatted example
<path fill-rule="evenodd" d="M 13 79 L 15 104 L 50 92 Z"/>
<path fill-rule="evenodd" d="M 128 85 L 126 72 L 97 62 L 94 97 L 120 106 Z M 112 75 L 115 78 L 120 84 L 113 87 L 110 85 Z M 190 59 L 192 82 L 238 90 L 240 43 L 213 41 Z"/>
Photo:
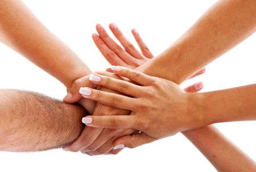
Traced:
<path fill-rule="evenodd" d="M 154 57 L 135 29 L 132 29 L 131 32 L 142 53 L 140 53 L 133 44 L 123 36 L 123 33 L 118 29 L 117 25 L 114 23 L 109 24 L 109 28 L 124 49 L 121 48 L 108 33 L 106 33 L 101 24 L 96 25 L 99 36 L 96 33 L 93 33 L 92 37 L 97 48 L 101 51 L 101 54 L 104 55 L 111 65 L 119 65 L 134 69 Z"/>

